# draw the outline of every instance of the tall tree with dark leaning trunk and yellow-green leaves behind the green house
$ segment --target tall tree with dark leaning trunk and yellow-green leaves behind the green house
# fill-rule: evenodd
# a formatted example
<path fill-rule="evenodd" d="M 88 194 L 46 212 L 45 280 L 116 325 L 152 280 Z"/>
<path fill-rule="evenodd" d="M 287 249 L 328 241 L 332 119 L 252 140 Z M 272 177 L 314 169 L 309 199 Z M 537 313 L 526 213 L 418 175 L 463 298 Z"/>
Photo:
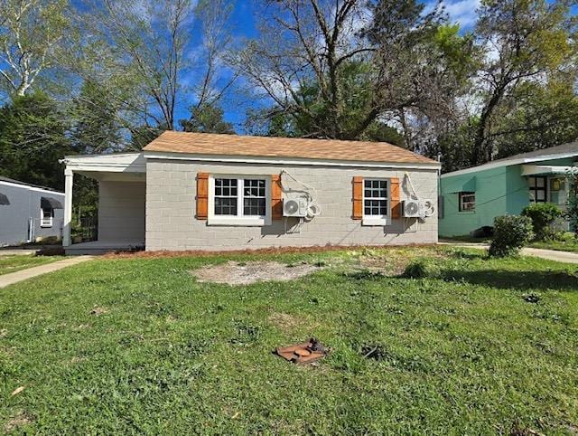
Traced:
<path fill-rule="evenodd" d="M 481 109 L 473 139 L 471 165 L 492 159 L 492 122 L 517 87 L 540 81 L 551 71 L 572 67 L 573 19 L 569 2 L 484 0 L 476 25 L 486 51 L 480 69 Z"/>

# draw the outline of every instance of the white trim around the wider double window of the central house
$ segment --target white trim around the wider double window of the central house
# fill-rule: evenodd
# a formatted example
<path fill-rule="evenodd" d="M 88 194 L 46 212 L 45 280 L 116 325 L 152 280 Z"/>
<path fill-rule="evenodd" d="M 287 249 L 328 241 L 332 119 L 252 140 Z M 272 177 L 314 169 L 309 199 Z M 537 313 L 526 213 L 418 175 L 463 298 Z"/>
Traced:
<path fill-rule="evenodd" d="M 238 182 L 237 190 L 237 210 L 238 215 L 215 215 L 215 179 L 216 178 L 234 178 Z M 246 178 L 264 179 L 265 180 L 265 216 L 243 216 L 243 183 L 242 180 Z M 231 174 L 211 174 L 209 175 L 209 213 L 207 217 L 207 225 L 223 225 L 223 226 L 245 226 L 258 227 L 264 225 L 271 225 L 271 175 L 231 175 Z"/>

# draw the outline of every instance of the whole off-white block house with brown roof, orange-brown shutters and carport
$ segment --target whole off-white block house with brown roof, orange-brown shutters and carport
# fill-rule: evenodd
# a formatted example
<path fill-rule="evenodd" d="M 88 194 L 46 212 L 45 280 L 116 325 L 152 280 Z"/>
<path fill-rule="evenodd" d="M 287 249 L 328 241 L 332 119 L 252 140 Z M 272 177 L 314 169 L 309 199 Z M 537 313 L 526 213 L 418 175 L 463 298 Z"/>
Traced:
<path fill-rule="evenodd" d="M 71 254 L 437 242 L 440 165 L 387 143 L 167 131 L 65 164 Z M 98 180 L 94 242 L 70 243 L 75 174 Z"/>

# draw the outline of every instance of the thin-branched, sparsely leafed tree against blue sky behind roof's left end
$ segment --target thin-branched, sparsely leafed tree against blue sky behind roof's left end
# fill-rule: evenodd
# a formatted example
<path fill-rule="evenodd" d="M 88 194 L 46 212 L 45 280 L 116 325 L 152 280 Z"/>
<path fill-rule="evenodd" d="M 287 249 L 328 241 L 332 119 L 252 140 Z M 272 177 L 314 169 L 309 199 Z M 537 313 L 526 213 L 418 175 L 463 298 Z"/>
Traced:
<path fill-rule="evenodd" d="M 147 125 L 174 128 L 174 112 L 185 68 L 191 0 L 94 0 L 83 14 L 91 36 L 84 43 L 92 52 L 80 52 L 82 73 L 124 76 L 133 98 L 123 100 Z"/>

